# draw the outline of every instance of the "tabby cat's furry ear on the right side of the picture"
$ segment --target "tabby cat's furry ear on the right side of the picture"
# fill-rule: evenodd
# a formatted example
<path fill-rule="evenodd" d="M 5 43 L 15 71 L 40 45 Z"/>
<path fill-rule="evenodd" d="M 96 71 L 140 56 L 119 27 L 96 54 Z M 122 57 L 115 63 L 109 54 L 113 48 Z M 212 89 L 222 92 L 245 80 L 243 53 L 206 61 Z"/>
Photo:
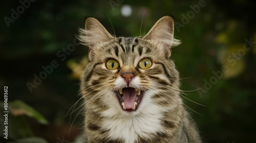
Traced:
<path fill-rule="evenodd" d="M 170 16 L 159 19 L 143 39 L 151 40 L 157 45 L 160 44 L 168 58 L 172 51 L 171 47 L 181 43 L 174 38 L 174 19 Z"/>

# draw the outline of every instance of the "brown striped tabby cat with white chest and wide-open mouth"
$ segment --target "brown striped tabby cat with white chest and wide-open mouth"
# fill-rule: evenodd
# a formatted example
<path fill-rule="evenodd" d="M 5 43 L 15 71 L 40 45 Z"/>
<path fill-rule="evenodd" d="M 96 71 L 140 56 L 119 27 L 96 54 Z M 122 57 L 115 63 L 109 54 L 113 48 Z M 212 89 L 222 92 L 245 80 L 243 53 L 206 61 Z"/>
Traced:
<path fill-rule="evenodd" d="M 112 36 L 95 18 L 79 40 L 90 63 L 81 76 L 85 142 L 200 143 L 179 96 L 179 73 L 170 60 L 174 19 L 159 19 L 144 37 Z"/>

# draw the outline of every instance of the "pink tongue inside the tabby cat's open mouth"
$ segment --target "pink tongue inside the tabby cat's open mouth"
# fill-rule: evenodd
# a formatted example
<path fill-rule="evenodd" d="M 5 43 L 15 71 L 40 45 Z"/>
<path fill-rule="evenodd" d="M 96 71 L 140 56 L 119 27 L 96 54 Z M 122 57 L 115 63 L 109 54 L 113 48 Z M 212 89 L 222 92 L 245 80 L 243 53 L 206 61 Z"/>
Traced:
<path fill-rule="evenodd" d="M 123 89 L 124 106 L 126 109 L 131 109 L 133 107 L 136 96 L 137 92 L 134 88 Z"/>

